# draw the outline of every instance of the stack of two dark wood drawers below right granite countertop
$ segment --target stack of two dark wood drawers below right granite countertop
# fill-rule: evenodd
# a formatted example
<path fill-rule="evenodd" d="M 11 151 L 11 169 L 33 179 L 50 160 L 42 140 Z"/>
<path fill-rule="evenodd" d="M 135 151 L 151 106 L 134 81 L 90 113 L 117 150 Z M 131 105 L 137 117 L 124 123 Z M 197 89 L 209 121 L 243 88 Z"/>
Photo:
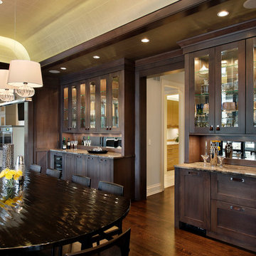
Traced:
<path fill-rule="evenodd" d="M 211 174 L 209 236 L 256 251 L 256 179 Z"/>

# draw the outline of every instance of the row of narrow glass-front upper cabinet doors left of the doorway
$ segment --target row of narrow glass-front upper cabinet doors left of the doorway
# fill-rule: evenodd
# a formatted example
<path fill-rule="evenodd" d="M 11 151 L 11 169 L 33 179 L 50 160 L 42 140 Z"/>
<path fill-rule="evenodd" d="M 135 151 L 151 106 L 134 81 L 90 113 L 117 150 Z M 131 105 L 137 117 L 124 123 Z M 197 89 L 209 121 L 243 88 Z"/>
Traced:
<path fill-rule="evenodd" d="M 63 132 L 120 132 L 122 71 L 61 88 Z"/>

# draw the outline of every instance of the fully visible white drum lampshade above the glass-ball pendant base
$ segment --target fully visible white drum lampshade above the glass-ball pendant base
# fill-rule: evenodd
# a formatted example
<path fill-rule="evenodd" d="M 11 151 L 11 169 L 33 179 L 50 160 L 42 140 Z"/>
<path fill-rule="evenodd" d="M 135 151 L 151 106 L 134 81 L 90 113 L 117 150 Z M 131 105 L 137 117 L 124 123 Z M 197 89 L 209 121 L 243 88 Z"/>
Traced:
<path fill-rule="evenodd" d="M 41 65 L 31 60 L 11 60 L 8 85 L 42 87 Z"/>

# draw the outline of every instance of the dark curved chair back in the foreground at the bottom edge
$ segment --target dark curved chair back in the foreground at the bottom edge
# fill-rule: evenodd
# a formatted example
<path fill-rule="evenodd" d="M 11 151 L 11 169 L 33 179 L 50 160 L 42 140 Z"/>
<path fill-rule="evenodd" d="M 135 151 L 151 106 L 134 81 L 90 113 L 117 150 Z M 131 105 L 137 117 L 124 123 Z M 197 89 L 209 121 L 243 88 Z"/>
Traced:
<path fill-rule="evenodd" d="M 80 252 L 71 252 L 65 256 L 128 256 L 129 255 L 129 240 L 131 236 L 131 229 L 119 235 L 108 242 L 92 247 Z"/>

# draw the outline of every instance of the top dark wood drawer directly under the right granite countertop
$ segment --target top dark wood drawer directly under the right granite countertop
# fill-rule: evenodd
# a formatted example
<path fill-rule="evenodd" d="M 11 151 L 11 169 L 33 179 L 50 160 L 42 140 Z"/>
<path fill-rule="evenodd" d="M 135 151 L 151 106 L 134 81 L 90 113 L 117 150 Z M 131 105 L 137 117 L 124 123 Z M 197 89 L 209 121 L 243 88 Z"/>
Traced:
<path fill-rule="evenodd" d="M 256 208 L 256 178 L 212 173 L 211 198 Z"/>

